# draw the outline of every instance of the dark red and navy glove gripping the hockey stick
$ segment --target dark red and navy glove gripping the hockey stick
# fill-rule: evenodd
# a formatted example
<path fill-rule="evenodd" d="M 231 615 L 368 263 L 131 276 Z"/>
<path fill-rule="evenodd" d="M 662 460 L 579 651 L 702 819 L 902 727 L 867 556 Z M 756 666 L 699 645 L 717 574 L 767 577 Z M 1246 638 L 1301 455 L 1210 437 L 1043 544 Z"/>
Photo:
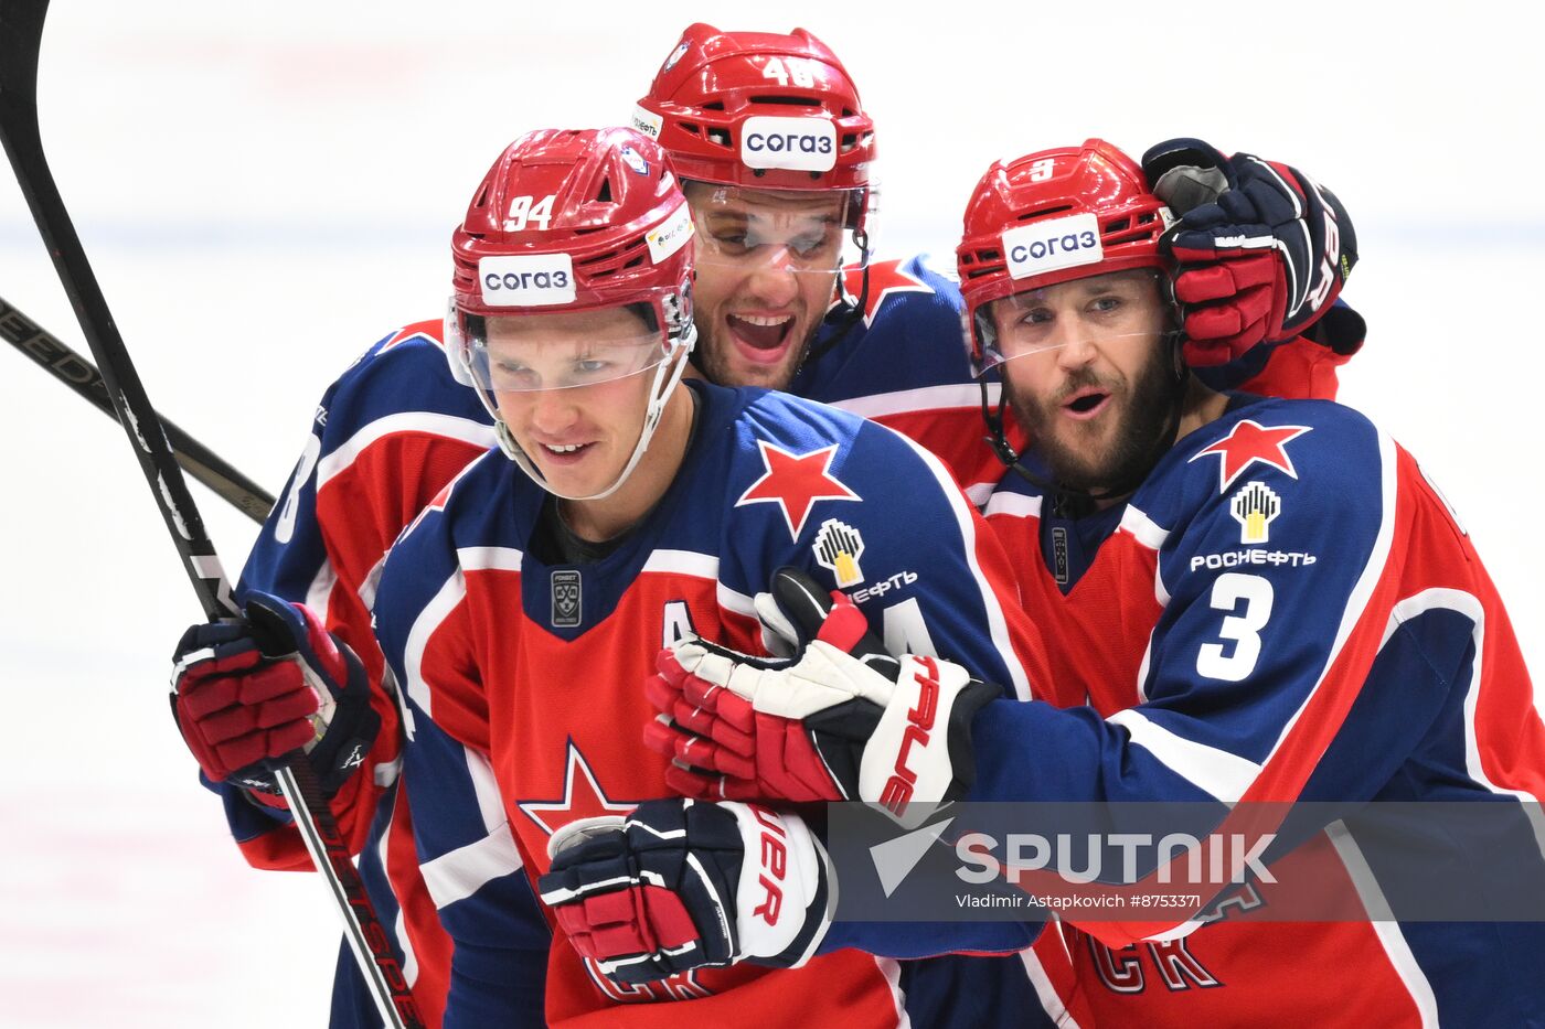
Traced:
<path fill-rule="evenodd" d="M 171 660 L 171 714 L 212 782 L 278 794 L 273 771 L 304 752 L 331 797 L 380 731 L 360 660 L 278 596 L 253 593 L 241 618 L 188 627 Z"/>

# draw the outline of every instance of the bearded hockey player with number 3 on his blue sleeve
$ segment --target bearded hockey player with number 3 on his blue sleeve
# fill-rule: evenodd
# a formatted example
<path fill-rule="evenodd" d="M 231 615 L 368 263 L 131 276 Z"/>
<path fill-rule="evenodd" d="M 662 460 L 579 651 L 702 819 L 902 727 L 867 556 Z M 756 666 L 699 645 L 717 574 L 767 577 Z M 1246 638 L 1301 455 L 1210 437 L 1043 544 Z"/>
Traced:
<path fill-rule="evenodd" d="M 1333 198 L 1304 188 L 1349 244 Z M 1066 709 L 992 701 L 963 748 L 975 785 L 961 790 L 953 769 L 924 799 L 1468 802 L 1494 813 L 1483 825 L 1499 853 L 1508 831 L 1522 837 L 1537 874 L 1530 817 L 1545 796 L 1545 726 L 1468 536 L 1411 454 L 1355 411 L 1219 394 L 1191 374 L 1163 250 L 1194 239 L 1165 238 L 1165 224 L 1137 165 L 1102 141 L 997 164 L 967 207 L 958 260 L 972 357 L 1001 369 L 1035 440 L 987 514 L 1027 613 L 1055 640 L 1051 698 Z M 1336 233 L 1309 290 L 1330 289 Z M 793 637 L 796 657 L 675 644 L 652 695 L 681 728 L 654 739 L 701 769 L 677 773 L 697 776 L 698 796 L 885 799 L 854 773 L 896 752 L 876 701 L 918 660 L 876 660 L 873 640 L 839 624 L 851 603 L 788 584 L 779 596 L 768 624 Z M 868 732 L 831 731 L 834 712 L 851 726 L 865 705 Z M 1344 921 L 1264 924 L 1293 895 L 1261 879 L 1214 908 L 1085 924 L 1075 958 L 1097 1020 L 1539 1021 L 1542 922 L 1378 921 L 1389 867 L 1364 856 L 1375 841 L 1358 825 L 1312 824 L 1282 859 L 1340 890 L 1353 904 Z M 644 828 L 595 831 L 544 893 L 604 910 L 596 859 L 607 847 L 613 865 L 641 854 Z M 1448 836 L 1395 845 L 1451 861 L 1485 851 Z M 711 936 L 711 905 L 686 902 Z M 561 924 L 584 930 L 581 915 Z M 638 958 L 616 927 L 613 939 L 604 956 Z"/>

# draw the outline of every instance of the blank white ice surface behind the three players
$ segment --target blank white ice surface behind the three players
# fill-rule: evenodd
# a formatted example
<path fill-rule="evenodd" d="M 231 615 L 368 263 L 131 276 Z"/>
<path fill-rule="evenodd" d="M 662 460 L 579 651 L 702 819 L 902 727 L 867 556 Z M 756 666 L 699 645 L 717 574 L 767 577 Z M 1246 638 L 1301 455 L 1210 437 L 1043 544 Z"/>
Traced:
<path fill-rule="evenodd" d="M 273 491 L 326 383 L 442 311 L 450 227 L 510 138 L 626 121 L 681 26 L 748 26 L 677 3 L 56 6 L 43 139 L 141 377 Z M 1196 134 L 1338 190 L 1372 326 L 1343 399 L 1443 485 L 1545 669 L 1545 133 L 1514 8 L 861 6 L 757 28 L 814 29 L 862 83 L 887 252 L 947 264 L 989 161 L 1091 134 Z M 0 295 L 83 351 L 0 179 Z M 246 868 L 167 715 L 198 607 L 122 431 L 0 354 L 0 1023 L 323 1024 L 317 884 Z M 255 527 L 198 499 L 236 573 Z"/>

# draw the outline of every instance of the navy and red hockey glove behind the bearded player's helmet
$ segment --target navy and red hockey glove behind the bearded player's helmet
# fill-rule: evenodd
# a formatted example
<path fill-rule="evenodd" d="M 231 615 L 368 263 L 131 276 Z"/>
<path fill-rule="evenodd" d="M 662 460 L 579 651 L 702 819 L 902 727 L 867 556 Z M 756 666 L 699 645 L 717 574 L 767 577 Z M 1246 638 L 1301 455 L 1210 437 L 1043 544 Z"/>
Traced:
<path fill-rule="evenodd" d="M 1160 249 L 1176 263 L 1193 366 L 1224 365 L 1306 332 L 1357 264 L 1341 201 L 1285 164 L 1170 139 L 1143 155 L 1143 173 L 1179 216 Z"/>

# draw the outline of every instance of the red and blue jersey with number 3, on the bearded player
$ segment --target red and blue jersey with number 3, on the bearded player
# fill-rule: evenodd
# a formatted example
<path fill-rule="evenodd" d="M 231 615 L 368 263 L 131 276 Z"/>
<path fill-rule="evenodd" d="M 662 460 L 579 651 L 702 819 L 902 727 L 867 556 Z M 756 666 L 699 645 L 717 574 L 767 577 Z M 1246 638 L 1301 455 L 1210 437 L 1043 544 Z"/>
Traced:
<path fill-rule="evenodd" d="M 1355 411 L 1241 396 L 1122 505 L 1063 518 L 1010 476 L 986 514 L 1069 709 L 990 705 L 978 799 L 1489 802 L 1545 839 L 1545 728 L 1508 616 L 1417 462 Z M 1085 924 L 1097 1020 L 1545 1024 L 1540 922 L 1375 921 L 1370 841 L 1350 817 L 1316 828 L 1278 885 Z M 1347 918 L 1262 921 L 1295 881 Z"/>

